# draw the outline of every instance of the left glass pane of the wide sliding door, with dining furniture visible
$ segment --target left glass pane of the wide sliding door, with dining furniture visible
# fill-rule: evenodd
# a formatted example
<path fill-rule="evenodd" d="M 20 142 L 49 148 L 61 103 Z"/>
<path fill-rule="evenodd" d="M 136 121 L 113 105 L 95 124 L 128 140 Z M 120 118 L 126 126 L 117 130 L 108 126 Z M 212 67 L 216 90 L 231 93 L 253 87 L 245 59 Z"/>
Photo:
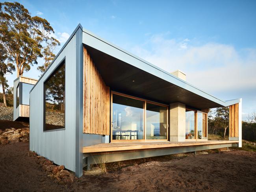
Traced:
<path fill-rule="evenodd" d="M 144 103 L 113 94 L 113 140 L 144 139 Z"/>

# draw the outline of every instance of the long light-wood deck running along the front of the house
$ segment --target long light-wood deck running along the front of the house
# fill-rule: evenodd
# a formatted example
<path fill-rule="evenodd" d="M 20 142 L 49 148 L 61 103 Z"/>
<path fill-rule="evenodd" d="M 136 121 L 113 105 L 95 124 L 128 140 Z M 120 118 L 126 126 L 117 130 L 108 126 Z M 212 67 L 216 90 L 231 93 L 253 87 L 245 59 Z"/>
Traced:
<path fill-rule="evenodd" d="M 180 148 L 189 146 L 206 146 L 217 144 L 238 143 L 238 141 L 229 140 L 208 140 L 208 141 L 184 141 L 184 142 L 125 142 L 125 143 L 103 143 L 83 147 L 83 153 L 99 153 L 110 151 L 128 151 L 128 150 L 150 150 L 160 148 Z"/>

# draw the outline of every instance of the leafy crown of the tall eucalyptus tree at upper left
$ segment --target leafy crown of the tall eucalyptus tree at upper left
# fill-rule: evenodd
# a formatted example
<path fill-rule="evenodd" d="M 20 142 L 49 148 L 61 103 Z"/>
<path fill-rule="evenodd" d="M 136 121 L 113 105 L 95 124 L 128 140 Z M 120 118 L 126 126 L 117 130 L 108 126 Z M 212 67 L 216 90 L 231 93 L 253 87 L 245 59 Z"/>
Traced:
<path fill-rule="evenodd" d="M 17 77 L 37 64 L 38 57 L 43 57 L 43 42 L 56 40 L 52 33 L 54 30 L 46 19 L 32 17 L 18 2 L 0 3 L 0 44 L 9 61 L 15 63 Z"/>

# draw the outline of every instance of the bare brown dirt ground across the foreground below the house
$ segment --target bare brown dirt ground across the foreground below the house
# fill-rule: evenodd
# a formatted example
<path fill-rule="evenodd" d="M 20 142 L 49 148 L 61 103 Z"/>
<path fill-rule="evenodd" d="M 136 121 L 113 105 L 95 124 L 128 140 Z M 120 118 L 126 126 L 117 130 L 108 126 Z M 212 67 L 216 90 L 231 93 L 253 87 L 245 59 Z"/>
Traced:
<path fill-rule="evenodd" d="M 64 186 L 26 155 L 28 142 L 0 147 L 0 191 L 256 191 L 256 152 L 225 151 L 188 155 L 168 161 L 148 161 L 108 172 L 83 176 Z"/>

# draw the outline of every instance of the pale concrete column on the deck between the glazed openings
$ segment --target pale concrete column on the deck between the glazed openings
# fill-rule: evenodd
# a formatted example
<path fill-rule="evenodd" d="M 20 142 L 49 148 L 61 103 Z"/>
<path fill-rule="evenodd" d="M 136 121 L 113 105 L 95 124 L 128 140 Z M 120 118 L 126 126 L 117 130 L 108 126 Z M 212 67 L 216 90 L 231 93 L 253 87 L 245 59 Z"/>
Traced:
<path fill-rule="evenodd" d="M 170 141 L 185 141 L 186 135 L 186 105 L 170 104 Z"/>

